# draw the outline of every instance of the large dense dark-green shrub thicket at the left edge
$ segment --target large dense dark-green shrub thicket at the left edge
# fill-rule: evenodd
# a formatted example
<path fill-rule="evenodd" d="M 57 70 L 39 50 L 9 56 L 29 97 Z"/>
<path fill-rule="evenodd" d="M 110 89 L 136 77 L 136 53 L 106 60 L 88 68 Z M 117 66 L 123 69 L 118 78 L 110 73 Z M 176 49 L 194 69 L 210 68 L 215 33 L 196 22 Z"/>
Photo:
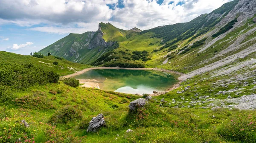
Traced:
<path fill-rule="evenodd" d="M 56 83 L 58 73 L 34 67 L 33 64 L 0 63 L 0 84 L 12 89 L 26 89 L 35 84 Z"/>

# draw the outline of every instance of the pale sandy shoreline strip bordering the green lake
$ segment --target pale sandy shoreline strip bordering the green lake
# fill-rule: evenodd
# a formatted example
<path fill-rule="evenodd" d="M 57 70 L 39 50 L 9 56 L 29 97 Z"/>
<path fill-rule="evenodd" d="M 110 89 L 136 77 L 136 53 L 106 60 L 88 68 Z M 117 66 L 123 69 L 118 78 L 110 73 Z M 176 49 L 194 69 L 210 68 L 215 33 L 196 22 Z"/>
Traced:
<path fill-rule="evenodd" d="M 176 76 L 186 75 L 184 73 L 180 73 L 180 72 L 176 72 L 176 71 L 172 71 L 172 70 L 164 70 L 164 69 L 160 69 L 160 68 L 157 68 L 157 67 L 155 67 L 155 68 L 89 67 L 89 68 L 86 68 L 84 70 L 78 71 L 78 72 L 70 74 L 70 75 L 61 76 L 61 79 L 66 79 L 66 78 L 71 78 L 71 77 L 74 77 L 74 76 L 78 76 L 78 75 L 83 74 L 83 73 L 85 73 L 89 70 L 95 70 L 95 69 L 157 70 L 157 71 L 166 72 L 166 73 L 173 73 L 173 74 L 176 74 Z M 151 94 L 151 96 L 158 96 L 158 95 L 165 94 L 165 93 L 168 93 L 171 90 L 176 89 L 177 87 L 180 86 L 180 83 L 182 81 L 182 80 L 179 80 L 178 78 L 177 78 L 177 80 L 178 80 L 178 82 L 176 84 L 172 85 L 168 90 L 166 90 L 164 92 L 153 93 L 153 94 Z M 86 79 L 86 80 L 79 79 L 79 83 L 83 84 L 80 87 L 99 88 L 99 84 L 97 82 L 99 82 L 99 81 L 96 81 L 95 79 Z"/>

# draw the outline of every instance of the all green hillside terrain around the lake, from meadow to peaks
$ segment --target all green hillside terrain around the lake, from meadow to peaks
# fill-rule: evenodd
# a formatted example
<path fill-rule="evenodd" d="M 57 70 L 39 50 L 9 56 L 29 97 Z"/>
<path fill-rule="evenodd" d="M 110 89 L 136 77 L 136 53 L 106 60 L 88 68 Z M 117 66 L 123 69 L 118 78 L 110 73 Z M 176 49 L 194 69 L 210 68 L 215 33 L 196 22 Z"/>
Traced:
<path fill-rule="evenodd" d="M 255 0 L 145 31 L 100 23 L 40 52 L 72 62 L 0 52 L 0 143 L 255 143 Z M 73 62 L 185 74 L 171 91 L 139 96 L 56 82 L 55 72 L 90 67 Z"/>

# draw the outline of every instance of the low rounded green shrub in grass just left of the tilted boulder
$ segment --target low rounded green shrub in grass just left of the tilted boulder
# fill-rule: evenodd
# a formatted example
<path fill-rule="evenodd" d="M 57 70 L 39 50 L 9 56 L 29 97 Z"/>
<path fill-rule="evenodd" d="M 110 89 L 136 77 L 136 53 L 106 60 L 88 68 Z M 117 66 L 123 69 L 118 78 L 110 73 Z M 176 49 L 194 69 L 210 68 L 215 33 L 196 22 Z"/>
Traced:
<path fill-rule="evenodd" d="M 49 123 L 67 123 L 75 119 L 81 119 L 82 112 L 73 106 L 66 106 L 56 111 L 49 119 Z"/>

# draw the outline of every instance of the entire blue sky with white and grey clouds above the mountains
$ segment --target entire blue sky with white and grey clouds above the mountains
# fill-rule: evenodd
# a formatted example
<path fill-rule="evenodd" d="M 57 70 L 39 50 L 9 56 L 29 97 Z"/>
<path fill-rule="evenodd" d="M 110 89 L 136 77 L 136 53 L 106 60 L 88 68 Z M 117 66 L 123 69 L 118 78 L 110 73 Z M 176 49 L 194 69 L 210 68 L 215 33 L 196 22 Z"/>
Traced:
<path fill-rule="evenodd" d="M 100 22 L 141 30 L 189 22 L 232 0 L 0 0 L 0 51 L 29 55 Z"/>

